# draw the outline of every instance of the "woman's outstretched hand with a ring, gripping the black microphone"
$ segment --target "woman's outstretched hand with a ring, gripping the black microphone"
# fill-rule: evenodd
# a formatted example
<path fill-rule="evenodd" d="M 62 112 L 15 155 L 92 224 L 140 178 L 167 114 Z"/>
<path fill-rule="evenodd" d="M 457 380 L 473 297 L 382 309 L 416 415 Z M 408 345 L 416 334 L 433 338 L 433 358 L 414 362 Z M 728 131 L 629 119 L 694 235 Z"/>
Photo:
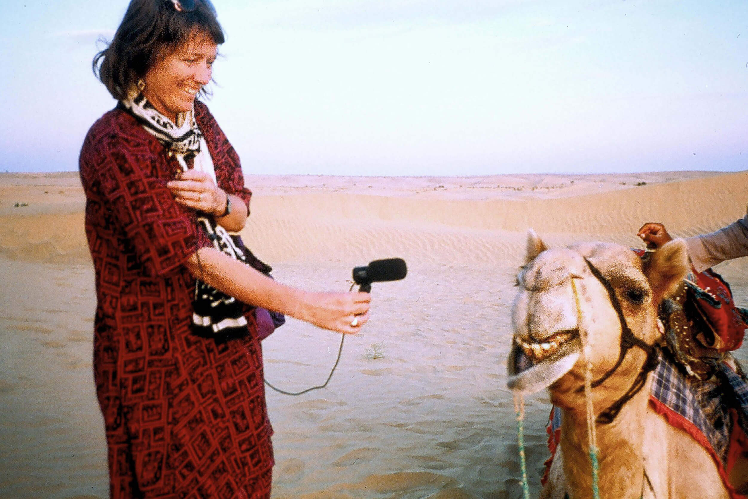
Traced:
<path fill-rule="evenodd" d="M 298 304 L 298 319 L 339 333 L 357 333 L 369 320 L 369 293 L 304 293 Z"/>

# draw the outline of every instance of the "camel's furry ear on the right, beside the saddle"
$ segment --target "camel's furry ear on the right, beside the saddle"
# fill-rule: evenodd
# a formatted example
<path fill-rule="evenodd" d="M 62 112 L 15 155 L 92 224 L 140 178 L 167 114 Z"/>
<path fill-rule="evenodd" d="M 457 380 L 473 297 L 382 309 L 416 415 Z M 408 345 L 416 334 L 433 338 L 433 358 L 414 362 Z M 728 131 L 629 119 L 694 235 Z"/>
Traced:
<path fill-rule="evenodd" d="M 654 304 L 659 304 L 663 298 L 675 293 L 689 268 L 683 239 L 674 239 L 652 253 L 652 257 L 644 264 L 643 271 L 652 287 Z"/>

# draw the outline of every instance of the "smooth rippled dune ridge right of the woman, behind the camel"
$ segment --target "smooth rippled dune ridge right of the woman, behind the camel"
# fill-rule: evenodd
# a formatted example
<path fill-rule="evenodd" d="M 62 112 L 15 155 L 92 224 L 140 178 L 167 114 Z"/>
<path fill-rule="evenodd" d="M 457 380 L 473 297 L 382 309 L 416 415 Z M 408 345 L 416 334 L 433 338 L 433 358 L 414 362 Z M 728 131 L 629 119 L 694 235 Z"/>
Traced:
<path fill-rule="evenodd" d="M 711 231 L 741 218 L 747 188 L 748 174 L 740 173 L 602 193 L 591 185 L 568 198 L 258 195 L 245 239 L 275 261 L 345 259 L 368 248 L 429 263 L 499 263 L 515 257 L 529 227 L 552 242 L 579 235 L 629 245 L 644 221 L 662 221 L 679 236 Z"/>

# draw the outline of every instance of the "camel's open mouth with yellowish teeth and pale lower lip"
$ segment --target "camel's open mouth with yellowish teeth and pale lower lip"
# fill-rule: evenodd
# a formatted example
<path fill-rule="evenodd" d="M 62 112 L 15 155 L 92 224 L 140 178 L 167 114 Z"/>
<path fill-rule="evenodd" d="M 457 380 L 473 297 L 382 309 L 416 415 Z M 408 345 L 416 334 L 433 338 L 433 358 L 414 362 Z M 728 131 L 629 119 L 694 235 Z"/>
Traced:
<path fill-rule="evenodd" d="M 577 329 L 560 331 L 533 343 L 515 336 L 509 352 L 509 389 L 532 394 L 552 385 L 574 367 L 582 342 Z"/>

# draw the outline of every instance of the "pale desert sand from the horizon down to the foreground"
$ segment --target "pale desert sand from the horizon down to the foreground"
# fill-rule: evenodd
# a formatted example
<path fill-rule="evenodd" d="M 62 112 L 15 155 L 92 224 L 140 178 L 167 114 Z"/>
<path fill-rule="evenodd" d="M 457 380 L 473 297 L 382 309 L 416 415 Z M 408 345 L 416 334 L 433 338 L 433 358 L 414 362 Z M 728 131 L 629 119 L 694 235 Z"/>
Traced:
<path fill-rule="evenodd" d="M 273 498 L 519 498 L 511 307 L 527 229 L 550 245 L 643 247 L 741 218 L 748 172 L 490 177 L 248 176 L 245 242 L 275 278 L 347 290 L 351 269 L 402 257 L 373 286 L 328 388 L 268 391 Z M 106 448 L 91 374 L 93 270 L 76 173 L 0 174 L 0 497 L 105 498 Z M 717 266 L 748 305 L 748 262 Z M 340 335 L 290 319 L 263 342 L 266 378 L 324 382 Z M 748 361 L 748 348 L 738 351 Z M 526 399 L 532 495 L 547 458 L 544 394 Z"/>

